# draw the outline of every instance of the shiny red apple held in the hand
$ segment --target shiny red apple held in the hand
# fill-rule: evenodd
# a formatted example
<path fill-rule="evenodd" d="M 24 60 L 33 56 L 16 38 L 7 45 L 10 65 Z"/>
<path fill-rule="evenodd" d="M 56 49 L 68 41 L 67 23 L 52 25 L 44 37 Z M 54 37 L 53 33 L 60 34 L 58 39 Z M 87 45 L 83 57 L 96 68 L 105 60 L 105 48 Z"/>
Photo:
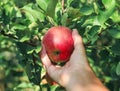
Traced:
<path fill-rule="evenodd" d="M 43 44 L 52 62 L 67 62 L 74 50 L 72 31 L 64 26 L 54 26 L 44 35 Z"/>

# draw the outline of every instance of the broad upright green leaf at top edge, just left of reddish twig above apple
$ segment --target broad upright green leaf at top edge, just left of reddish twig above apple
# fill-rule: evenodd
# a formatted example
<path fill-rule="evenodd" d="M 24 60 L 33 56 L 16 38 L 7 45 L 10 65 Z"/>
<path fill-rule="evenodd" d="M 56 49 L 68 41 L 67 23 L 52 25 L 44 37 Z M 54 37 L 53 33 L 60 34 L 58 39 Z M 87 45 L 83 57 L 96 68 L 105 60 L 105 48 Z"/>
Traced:
<path fill-rule="evenodd" d="M 50 0 L 47 6 L 46 14 L 53 19 L 55 18 L 55 8 L 57 3 L 58 0 Z"/>

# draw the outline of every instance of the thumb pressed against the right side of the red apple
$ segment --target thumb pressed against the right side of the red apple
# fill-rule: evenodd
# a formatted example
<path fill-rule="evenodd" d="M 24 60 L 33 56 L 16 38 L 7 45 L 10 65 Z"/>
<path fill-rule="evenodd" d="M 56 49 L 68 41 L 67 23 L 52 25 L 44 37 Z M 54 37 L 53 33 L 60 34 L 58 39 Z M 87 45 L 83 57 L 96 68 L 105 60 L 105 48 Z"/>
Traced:
<path fill-rule="evenodd" d="M 76 62 L 80 63 L 80 61 L 75 61 L 75 60 L 84 60 L 86 62 L 87 58 L 86 58 L 82 37 L 78 34 L 78 31 L 76 29 L 73 30 L 72 37 L 74 40 L 74 51 L 71 55 L 70 61 L 74 63 Z"/>

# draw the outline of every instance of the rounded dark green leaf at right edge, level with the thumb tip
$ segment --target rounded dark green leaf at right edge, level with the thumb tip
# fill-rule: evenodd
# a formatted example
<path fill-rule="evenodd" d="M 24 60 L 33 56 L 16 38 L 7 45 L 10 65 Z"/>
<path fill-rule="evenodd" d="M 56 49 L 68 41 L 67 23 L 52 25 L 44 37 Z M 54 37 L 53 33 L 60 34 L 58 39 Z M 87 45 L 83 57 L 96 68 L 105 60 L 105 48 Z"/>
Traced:
<path fill-rule="evenodd" d="M 118 28 L 111 28 L 108 30 L 108 33 L 116 39 L 120 39 L 120 29 Z"/>

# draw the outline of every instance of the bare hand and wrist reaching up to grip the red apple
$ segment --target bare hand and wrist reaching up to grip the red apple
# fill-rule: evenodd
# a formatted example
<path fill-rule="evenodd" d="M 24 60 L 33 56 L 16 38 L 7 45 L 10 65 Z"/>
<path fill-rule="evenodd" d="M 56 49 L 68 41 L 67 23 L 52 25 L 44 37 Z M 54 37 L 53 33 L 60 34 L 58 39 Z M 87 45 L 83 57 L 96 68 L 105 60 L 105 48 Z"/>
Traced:
<path fill-rule="evenodd" d="M 62 67 L 51 63 L 42 44 L 41 60 L 48 75 L 67 91 L 109 91 L 96 77 L 85 53 L 81 36 L 73 30 L 74 51 L 70 60 Z"/>

